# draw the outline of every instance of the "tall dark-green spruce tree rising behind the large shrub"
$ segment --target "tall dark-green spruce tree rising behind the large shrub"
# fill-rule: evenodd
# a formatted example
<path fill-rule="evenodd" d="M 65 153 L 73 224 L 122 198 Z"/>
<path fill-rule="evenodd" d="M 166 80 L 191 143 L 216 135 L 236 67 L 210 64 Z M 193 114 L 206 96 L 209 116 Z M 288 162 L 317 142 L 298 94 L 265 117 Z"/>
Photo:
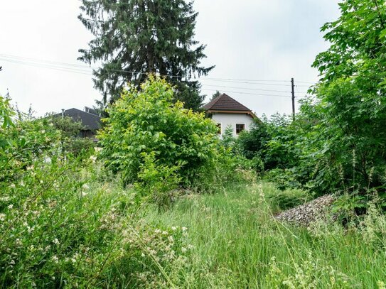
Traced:
<path fill-rule="evenodd" d="M 203 101 L 195 77 L 208 75 L 203 67 L 205 45 L 194 40 L 193 1 L 82 0 L 80 21 L 95 36 L 80 60 L 101 62 L 94 70 L 102 104 L 114 102 L 130 82 L 136 87 L 148 73 L 167 75 L 176 86 L 176 99 L 198 109 Z"/>

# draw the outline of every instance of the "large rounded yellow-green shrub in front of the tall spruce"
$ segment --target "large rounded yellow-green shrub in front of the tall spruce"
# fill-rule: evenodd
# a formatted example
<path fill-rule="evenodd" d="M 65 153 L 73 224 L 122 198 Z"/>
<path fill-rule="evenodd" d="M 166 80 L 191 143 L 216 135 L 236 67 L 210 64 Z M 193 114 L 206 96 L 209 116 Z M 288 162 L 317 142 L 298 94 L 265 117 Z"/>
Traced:
<path fill-rule="evenodd" d="M 125 184 L 139 180 L 141 164 L 152 153 L 157 165 L 178 166 L 185 184 L 210 166 L 218 142 L 215 124 L 181 102 L 173 103 L 173 94 L 165 80 L 150 77 L 140 91 L 124 91 L 109 107 L 98 138 L 106 164 L 122 173 Z"/>

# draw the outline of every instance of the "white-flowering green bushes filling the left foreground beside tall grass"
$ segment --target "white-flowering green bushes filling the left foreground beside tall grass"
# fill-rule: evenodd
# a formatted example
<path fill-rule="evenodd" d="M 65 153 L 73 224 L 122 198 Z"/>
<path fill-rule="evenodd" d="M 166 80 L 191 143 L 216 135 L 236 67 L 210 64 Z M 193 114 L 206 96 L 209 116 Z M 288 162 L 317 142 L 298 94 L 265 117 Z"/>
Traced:
<path fill-rule="evenodd" d="M 1 133 L 1 288 L 173 287 L 167 271 L 188 259 L 186 229 L 142 222 L 137 193 L 106 182 L 96 156 L 63 156 L 49 119 Z"/>

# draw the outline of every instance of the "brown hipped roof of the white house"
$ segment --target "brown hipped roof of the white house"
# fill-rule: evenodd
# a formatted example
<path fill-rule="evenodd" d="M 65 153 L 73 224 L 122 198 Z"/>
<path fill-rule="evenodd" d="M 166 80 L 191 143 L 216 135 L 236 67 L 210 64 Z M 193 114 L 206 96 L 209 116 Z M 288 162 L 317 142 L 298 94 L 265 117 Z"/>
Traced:
<path fill-rule="evenodd" d="M 235 114 L 240 112 L 250 114 L 252 117 L 256 117 L 250 109 L 240 104 L 240 102 L 237 102 L 237 100 L 232 99 L 232 97 L 225 93 L 221 94 L 215 99 L 212 99 L 210 102 L 208 102 L 208 104 L 205 104 L 203 106 L 203 109 L 205 109 L 205 111 L 208 111 L 209 113 L 217 111 Z"/>

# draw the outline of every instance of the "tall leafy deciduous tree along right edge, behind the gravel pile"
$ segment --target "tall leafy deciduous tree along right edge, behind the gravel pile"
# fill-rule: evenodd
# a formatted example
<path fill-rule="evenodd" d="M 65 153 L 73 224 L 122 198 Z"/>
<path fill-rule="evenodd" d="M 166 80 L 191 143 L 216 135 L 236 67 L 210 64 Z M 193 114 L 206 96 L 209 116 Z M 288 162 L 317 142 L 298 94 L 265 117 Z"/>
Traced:
<path fill-rule="evenodd" d="M 322 78 L 303 108 L 312 125 L 302 145 L 318 190 L 367 194 L 385 190 L 386 10 L 378 0 L 339 5 L 338 20 L 322 27 L 331 48 L 313 63 Z"/>

